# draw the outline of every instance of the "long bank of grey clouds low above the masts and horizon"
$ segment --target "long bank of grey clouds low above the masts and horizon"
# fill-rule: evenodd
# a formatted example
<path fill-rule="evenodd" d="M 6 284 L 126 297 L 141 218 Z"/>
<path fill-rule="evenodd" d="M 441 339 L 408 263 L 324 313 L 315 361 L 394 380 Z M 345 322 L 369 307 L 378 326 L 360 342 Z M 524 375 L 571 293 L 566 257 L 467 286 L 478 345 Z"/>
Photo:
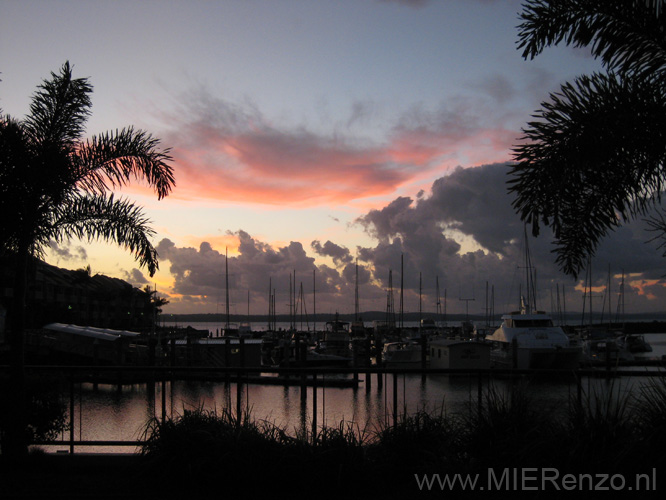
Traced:
<path fill-rule="evenodd" d="M 362 310 L 383 310 L 389 275 L 396 294 L 404 290 L 404 310 L 436 309 L 436 283 L 440 299 L 445 291 L 448 312 L 464 312 L 461 298 L 474 298 L 470 312 L 483 313 L 488 284 L 495 293 L 495 310 L 516 307 L 523 281 L 523 225 L 513 213 L 506 192 L 506 164 L 457 168 L 437 179 L 428 193 L 415 199 L 397 197 L 381 209 L 368 211 L 355 224 L 372 236 L 373 246 L 346 248 L 334 241 L 312 241 L 309 248 L 299 242 L 273 246 L 258 241 L 242 229 L 229 233 L 238 245 L 226 256 L 207 242 L 199 248 L 178 247 L 169 239 L 157 246 L 162 261 L 174 278 L 172 305 L 180 310 L 223 311 L 226 271 L 233 311 L 245 313 L 249 293 L 251 312 L 268 312 L 269 283 L 276 291 L 278 312 L 288 311 L 288 293 L 303 287 L 306 304 L 317 312 L 352 312 L 356 262 Z M 619 276 L 626 276 L 625 301 L 628 312 L 660 310 L 666 294 L 663 259 L 646 244 L 644 224 L 620 228 L 603 242 L 593 263 L 594 308 L 600 312 L 607 299 L 603 287 L 611 268 L 612 313 L 617 304 Z M 567 310 L 582 307 L 574 282 L 554 265 L 548 234 L 529 238 L 533 264 L 537 269 L 539 306 L 550 309 L 560 287 L 567 291 Z M 322 264 L 322 258 L 330 264 Z M 631 268 L 623 268 L 631 262 Z M 166 264 L 163 268 L 167 268 Z M 401 274 L 400 271 L 403 271 Z"/>

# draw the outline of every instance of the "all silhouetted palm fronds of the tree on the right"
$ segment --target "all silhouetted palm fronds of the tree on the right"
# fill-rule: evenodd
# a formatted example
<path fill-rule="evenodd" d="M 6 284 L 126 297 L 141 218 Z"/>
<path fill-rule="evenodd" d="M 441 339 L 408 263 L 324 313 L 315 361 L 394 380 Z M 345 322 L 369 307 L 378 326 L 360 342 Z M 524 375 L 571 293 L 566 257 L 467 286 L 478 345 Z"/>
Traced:
<path fill-rule="evenodd" d="M 584 75 L 543 102 L 514 148 L 513 207 L 555 236 L 556 261 L 578 275 L 599 242 L 639 216 L 663 239 L 666 18 L 663 0 L 529 0 L 525 59 L 548 46 L 590 47 L 606 73 Z M 654 212 L 653 212 L 654 211 Z"/>

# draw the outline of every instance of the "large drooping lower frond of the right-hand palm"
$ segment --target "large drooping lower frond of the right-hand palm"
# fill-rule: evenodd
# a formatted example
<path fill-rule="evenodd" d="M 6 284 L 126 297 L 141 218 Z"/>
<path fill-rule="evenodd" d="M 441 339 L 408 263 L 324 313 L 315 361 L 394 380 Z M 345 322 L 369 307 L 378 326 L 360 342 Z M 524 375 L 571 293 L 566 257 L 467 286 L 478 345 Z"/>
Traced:
<path fill-rule="evenodd" d="M 595 74 L 542 106 L 514 148 L 509 192 L 535 235 L 551 226 L 557 261 L 576 276 L 609 230 L 660 201 L 666 96 L 651 82 Z"/>

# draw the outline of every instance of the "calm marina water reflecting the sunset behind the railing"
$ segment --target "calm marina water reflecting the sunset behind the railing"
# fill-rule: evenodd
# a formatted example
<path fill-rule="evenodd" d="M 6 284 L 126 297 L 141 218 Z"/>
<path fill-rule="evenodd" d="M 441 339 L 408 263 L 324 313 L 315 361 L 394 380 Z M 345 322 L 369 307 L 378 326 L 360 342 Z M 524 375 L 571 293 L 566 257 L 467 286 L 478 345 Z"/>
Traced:
<path fill-rule="evenodd" d="M 666 354 L 666 334 L 646 335 L 653 347 L 649 356 Z M 646 368 L 635 368 L 644 371 Z M 333 377 L 333 375 L 330 375 Z M 376 375 L 368 385 L 366 375 L 360 375 L 357 388 L 317 388 L 317 426 L 337 426 L 340 422 L 354 423 L 360 429 L 371 431 L 393 419 L 393 379 L 384 377 L 379 387 Z M 622 377 L 609 383 L 604 379 L 584 379 L 583 389 L 588 393 L 603 390 L 613 384 L 618 391 L 635 390 L 646 377 Z M 476 405 L 478 385 L 476 378 L 428 375 L 399 375 L 397 402 L 400 413 L 414 413 L 425 409 L 447 412 L 469 411 Z M 505 389 L 510 382 L 495 380 L 497 389 Z M 484 381 L 484 390 L 488 382 Z M 301 392 L 299 386 L 241 385 L 241 406 L 249 409 L 255 419 L 265 419 L 293 434 L 303 428 L 311 429 L 314 415 L 312 387 Z M 541 406 L 553 410 L 563 407 L 570 396 L 576 394 L 576 386 L 565 381 L 533 381 L 529 385 L 533 399 Z M 75 439 L 83 440 L 134 440 L 139 439 L 146 423 L 162 416 L 162 385 L 137 384 L 118 389 L 112 385 L 80 384 L 75 386 L 74 427 Z M 184 412 L 203 407 L 210 410 L 237 407 L 237 386 L 224 382 L 167 382 L 165 387 L 165 412 L 176 417 Z M 69 397 L 64 401 L 69 407 Z M 69 438 L 69 432 L 64 436 Z M 68 447 L 49 448 L 63 449 Z M 77 447 L 77 452 L 125 452 L 132 447 Z"/>

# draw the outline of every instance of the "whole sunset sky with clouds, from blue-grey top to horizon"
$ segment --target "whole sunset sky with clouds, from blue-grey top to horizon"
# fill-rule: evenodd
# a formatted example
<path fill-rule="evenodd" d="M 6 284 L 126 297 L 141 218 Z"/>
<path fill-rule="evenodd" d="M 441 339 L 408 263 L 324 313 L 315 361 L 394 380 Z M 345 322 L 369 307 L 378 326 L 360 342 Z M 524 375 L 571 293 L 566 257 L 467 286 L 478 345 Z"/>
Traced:
<path fill-rule="evenodd" d="M 601 70 L 566 46 L 523 59 L 520 8 L 0 0 L 5 113 L 25 116 L 37 85 L 69 61 L 94 86 L 88 137 L 133 125 L 173 156 L 170 196 L 141 183 L 119 193 L 152 220 L 153 277 L 106 243 L 53 242 L 47 261 L 149 285 L 173 314 L 223 312 L 227 281 L 237 314 L 267 313 L 270 288 L 286 314 L 290 286 L 307 313 L 354 312 L 356 286 L 361 310 L 385 310 L 389 285 L 405 312 L 436 312 L 438 296 L 449 314 L 516 309 L 525 271 L 506 189 L 512 147 L 549 93 Z M 603 241 L 593 312 L 616 315 L 622 276 L 627 313 L 664 311 L 650 237 L 638 220 Z M 581 311 L 582 277 L 559 272 L 547 231 L 529 240 L 537 306 Z"/>

